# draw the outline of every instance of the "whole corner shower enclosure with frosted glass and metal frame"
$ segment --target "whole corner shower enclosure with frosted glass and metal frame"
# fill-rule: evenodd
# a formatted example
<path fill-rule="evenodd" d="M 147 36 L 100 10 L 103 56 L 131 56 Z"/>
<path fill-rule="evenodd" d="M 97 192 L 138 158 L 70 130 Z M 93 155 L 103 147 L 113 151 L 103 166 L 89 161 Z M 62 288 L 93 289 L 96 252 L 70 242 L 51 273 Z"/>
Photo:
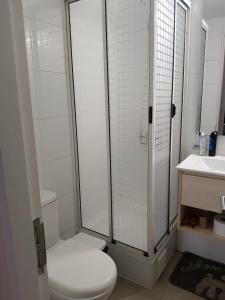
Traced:
<path fill-rule="evenodd" d="M 67 3 L 80 229 L 150 257 L 177 216 L 185 2 Z"/>

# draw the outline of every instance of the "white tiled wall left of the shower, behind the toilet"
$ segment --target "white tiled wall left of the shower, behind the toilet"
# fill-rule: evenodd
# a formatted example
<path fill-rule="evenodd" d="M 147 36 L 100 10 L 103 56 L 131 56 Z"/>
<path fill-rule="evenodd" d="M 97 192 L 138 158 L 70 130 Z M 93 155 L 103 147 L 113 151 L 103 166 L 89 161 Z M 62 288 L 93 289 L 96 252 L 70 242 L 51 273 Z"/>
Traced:
<path fill-rule="evenodd" d="M 57 194 L 61 236 L 75 230 L 63 4 L 23 0 L 39 182 Z"/>

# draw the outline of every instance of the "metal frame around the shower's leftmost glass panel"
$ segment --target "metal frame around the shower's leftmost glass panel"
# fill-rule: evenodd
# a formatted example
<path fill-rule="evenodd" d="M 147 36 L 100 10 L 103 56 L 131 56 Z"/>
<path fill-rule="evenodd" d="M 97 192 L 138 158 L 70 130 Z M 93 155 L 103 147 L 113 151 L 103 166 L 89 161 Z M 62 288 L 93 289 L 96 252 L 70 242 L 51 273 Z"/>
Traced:
<path fill-rule="evenodd" d="M 70 105 L 71 105 L 71 119 L 72 119 L 72 131 L 73 131 L 73 144 L 74 144 L 74 175 L 75 175 L 75 202 L 76 202 L 76 219 L 77 219 L 77 232 L 84 232 L 92 234 L 98 238 L 104 239 L 107 242 L 112 241 L 112 184 L 111 184 L 111 156 L 110 156 L 110 122 L 109 122 L 109 84 L 108 84 L 108 57 L 107 57 L 107 24 L 106 24 L 106 0 L 101 0 L 102 2 L 102 16 L 104 23 L 104 34 L 103 34 L 103 47 L 104 50 L 104 78 L 105 82 L 105 105 L 106 105 L 106 129 L 107 129 L 107 157 L 109 158 L 107 170 L 108 170 L 108 187 L 109 187 L 109 196 L 108 196 L 108 213 L 109 213 L 109 235 L 98 233 L 94 230 L 85 228 L 82 225 L 82 211 L 81 211 L 81 190 L 80 190 L 80 171 L 79 171 L 79 153 L 78 153 L 78 137 L 77 137 L 77 121 L 76 121 L 76 97 L 74 89 L 74 73 L 73 73 L 73 57 L 72 57 L 72 42 L 71 42 L 71 26 L 70 26 L 70 3 L 75 3 L 82 0 L 65 0 L 65 19 L 66 19 L 66 38 L 67 38 L 67 68 L 69 72 L 69 92 L 70 92 Z"/>

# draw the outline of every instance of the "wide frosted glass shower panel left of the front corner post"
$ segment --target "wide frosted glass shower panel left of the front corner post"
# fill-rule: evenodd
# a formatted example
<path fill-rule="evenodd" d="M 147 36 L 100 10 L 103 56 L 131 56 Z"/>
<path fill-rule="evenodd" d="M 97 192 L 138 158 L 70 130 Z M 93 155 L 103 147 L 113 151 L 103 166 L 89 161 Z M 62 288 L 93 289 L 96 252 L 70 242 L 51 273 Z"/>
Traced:
<path fill-rule="evenodd" d="M 108 0 L 113 238 L 147 250 L 149 0 Z"/>

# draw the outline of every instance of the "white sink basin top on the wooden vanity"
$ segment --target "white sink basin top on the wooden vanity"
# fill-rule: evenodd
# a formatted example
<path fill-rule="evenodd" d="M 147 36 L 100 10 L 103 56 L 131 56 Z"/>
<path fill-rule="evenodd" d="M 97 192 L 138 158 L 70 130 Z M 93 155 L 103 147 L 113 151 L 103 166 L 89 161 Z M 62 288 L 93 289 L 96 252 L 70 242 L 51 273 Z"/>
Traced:
<path fill-rule="evenodd" d="M 225 176 L 225 156 L 190 155 L 178 166 L 178 170 Z"/>

